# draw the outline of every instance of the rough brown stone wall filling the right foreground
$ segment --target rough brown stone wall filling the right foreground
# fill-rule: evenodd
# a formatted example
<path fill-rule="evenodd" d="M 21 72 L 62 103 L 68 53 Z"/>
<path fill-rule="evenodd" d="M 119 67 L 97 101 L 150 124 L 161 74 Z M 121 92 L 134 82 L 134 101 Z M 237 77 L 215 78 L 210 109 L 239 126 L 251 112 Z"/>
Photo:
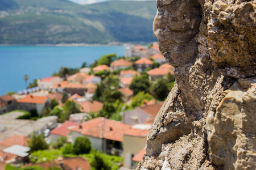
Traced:
<path fill-rule="evenodd" d="M 137 169 L 256 169 L 256 1 L 156 5 L 176 82 Z"/>

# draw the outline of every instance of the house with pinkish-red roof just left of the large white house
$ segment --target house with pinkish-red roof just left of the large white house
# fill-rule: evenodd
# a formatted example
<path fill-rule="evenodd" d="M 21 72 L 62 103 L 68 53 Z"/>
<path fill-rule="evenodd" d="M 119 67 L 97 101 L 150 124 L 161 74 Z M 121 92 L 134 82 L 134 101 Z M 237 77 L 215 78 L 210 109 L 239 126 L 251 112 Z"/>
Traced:
<path fill-rule="evenodd" d="M 57 138 L 63 136 L 68 137 L 70 130 L 69 128 L 72 126 L 75 126 L 76 122 L 72 121 L 65 121 L 63 124 L 61 124 L 59 127 L 53 129 L 50 131 L 50 139 L 53 143 L 57 142 Z"/>

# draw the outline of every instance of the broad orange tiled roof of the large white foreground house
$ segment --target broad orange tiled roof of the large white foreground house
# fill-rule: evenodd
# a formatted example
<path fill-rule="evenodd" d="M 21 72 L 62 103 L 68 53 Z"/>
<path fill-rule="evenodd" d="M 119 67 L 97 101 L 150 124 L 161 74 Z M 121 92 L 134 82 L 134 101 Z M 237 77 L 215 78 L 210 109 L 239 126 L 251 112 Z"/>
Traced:
<path fill-rule="evenodd" d="M 119 142 L 123 141 L 123 134 L 131 127 L 131 125 L 109 120 L 104 117 L 94 118 L 93 120 L 83 122 L 79 126 L 76 126 L 71 130 L 79 131 L 81 134 L 90 137 L 110 139 Z"/>

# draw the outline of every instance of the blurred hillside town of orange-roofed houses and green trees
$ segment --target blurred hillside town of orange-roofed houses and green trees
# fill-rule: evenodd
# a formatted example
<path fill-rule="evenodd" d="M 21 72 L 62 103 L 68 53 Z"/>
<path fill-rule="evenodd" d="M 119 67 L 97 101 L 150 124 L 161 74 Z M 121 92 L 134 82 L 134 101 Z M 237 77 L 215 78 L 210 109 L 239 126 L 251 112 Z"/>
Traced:
<path fill-rule="evenodd" d="M 174 67 L 157 42 L 81 64 L 0 96 L 0 169 L 137 167 Z"/>

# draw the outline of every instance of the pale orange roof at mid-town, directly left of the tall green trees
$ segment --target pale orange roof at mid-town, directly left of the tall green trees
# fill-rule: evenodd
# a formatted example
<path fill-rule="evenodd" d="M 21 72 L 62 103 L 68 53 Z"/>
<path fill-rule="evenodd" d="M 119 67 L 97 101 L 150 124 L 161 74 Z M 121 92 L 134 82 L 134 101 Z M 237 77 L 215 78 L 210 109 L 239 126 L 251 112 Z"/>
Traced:
<path fill-rule="evenodd" d="M 102 109 L 103 103 L 100 101 L 82 101 L 79 103 L 81 107 L 81 112 L 85 113 L 92 113 L 92 112 L 98 112 Z"/>

